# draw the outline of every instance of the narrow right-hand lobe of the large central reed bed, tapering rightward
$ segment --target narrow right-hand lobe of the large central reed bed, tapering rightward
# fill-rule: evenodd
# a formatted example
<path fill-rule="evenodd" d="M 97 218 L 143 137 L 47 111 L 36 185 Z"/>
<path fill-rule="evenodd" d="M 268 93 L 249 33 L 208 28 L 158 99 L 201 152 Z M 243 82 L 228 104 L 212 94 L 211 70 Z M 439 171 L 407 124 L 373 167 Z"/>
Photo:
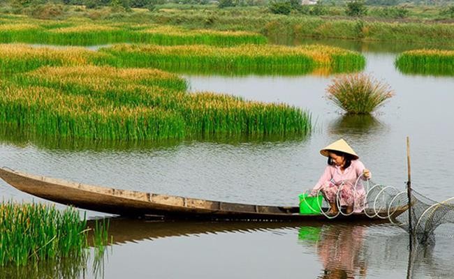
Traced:
<path fill-rule="evenodd" d="M 307 111 L 216 93 L 191 94 L 182 113 L 193 135 L 305 135 L 311 130 Z"/>

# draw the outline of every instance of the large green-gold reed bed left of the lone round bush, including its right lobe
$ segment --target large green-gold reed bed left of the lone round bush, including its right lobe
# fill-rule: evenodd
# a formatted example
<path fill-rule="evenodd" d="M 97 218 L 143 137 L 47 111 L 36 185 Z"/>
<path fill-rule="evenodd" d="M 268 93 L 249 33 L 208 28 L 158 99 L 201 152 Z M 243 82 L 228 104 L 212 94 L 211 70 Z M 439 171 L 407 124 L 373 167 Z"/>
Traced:
<path fill-rule="evenodd" d="M 306 135 L 299 108 L 186 92 L 154 69 L 43 67 L 0 80 L 0 122 L 29 133 L 91 140 L 160 140 L 219 135 Z"/>

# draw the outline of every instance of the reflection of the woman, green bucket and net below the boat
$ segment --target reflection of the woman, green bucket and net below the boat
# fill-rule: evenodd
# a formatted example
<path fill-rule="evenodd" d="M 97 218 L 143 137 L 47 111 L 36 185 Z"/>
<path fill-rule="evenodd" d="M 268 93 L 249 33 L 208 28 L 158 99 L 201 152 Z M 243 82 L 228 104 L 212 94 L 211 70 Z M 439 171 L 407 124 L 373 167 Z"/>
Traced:
<path fill-rule="evenodd" d="M 413 243 L 410 248 L 408 234 L 367 235 L 369 229 L 361 225 L 305 226 L 299 229 L 298 241 L 318 256 L 323 266 L 318 278 L 366 278 L 368 270 L 405 268 L 407 278 L 451 278 L 454 274 L 451 260 L 434 257 L 434 242 Z"/>

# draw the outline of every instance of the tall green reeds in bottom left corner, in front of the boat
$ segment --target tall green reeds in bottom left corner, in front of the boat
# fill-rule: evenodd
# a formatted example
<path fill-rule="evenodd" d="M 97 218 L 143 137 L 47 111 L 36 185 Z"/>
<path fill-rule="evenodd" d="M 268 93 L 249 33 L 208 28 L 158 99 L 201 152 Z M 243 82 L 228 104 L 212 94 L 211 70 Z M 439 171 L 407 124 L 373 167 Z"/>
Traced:
<path fill-rule="evenodd" d="M 103 239 L 105 227 L 94 230 Z M 0 266 L 25 266 L 30 262 L 83 259 L 87 248 L 87 221 L 73 208 L 58 211 L 42 204 L 0 205 Z M 101 235 L 101 236 L 100 236 Z M 98 246 L 107 245 L 98 242 Z"/>

